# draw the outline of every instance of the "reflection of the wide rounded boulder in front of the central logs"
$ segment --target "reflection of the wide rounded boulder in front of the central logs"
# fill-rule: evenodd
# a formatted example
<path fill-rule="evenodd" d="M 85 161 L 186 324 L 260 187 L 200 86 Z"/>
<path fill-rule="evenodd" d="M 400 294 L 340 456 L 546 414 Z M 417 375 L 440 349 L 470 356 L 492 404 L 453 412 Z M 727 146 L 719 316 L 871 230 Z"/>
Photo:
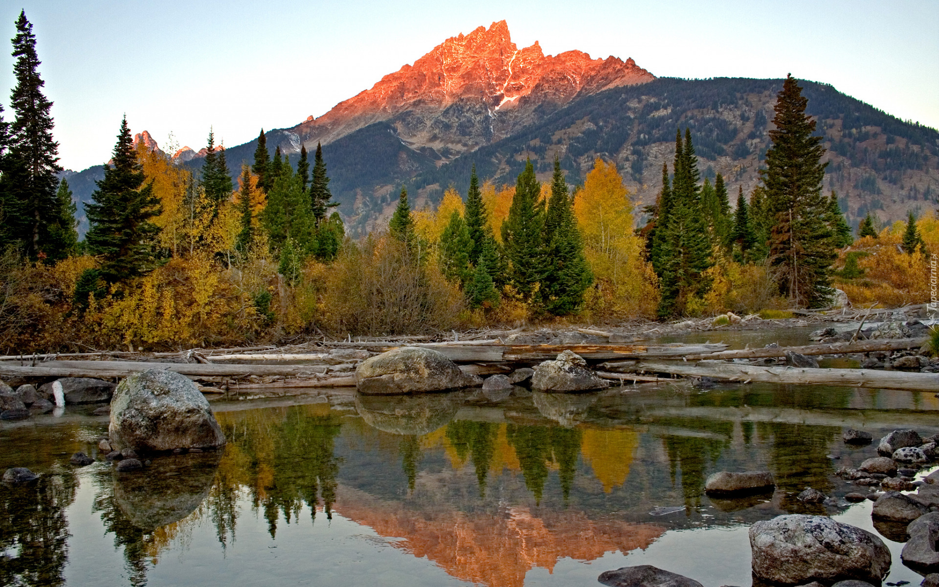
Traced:
<path fill-rule="evenodd" d="M 355 407 L 365 424 L 392 434 L 418 436 L 453 420 L 464 394 L 362 395 Z"/>

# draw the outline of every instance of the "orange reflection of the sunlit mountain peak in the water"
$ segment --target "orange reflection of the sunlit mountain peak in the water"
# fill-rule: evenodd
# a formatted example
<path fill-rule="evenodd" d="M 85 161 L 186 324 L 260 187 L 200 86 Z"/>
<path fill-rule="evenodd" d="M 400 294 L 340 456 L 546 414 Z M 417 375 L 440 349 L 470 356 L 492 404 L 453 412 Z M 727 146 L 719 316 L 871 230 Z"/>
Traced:
<path fill-rule="evenodd" d="M 416 557 L 427 557 L 457 579 L 488 587 L 520 587 L 533 567 L 554 569 L 559 559 L 593 561 L 607 552 L 647 548 L 665 528 L 580 511 L 515 506 L 467 514 L 455 509 L 411 510 L 340 485 L 334 509 L 368 526 Z"/>

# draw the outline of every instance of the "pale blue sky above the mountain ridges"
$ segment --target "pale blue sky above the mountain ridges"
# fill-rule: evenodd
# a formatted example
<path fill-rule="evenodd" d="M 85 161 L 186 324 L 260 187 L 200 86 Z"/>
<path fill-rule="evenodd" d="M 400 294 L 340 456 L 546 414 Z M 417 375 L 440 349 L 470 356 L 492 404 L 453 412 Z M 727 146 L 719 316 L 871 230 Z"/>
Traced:
<path fill-rule="evenodd" d="M 0 0 L 34 24 L 71 169 L 106 161 L 120 117 L 164 146 L 226 145 L 320 116 L 443 39 L 506 20 L 519 47 L 633 57 L 663 77 L 794 76 L 939 127 L 939 2 L 134 2 Z M 4 40 L 6 43 L 7 41 Z M 13 85 L 0 51 L 0 103 Z M 9 112 L 6 113 L 7 119 Z"/>

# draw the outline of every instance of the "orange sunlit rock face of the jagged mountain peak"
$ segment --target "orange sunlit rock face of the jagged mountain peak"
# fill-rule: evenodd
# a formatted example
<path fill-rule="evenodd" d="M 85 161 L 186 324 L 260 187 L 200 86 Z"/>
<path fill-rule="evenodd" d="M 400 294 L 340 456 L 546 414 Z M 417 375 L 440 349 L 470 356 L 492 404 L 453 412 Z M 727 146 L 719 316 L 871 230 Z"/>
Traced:
<path fill-rule="evenodd" d="M 578 93 L 595 92 L 650 82 L 655 76 L 639 68 L 632 58 L 592 59 L 580 51 L 545 55 L 537 41 L 518 49 L 505 21 L 480 26 L 469 35 L 446 39 L 413 65 L 384 76 L 357 96 L 337 104 L 316 119 L 307 118 L 297 131 L 304 143 L 330 143 L 374 122 L 404 112 L 434 116 L 456 102 L 483 105 L 494 120 L 505 111 L 551 101 L 566 103 Z M 419 137 L 423 127 L 405 129 Z M 494 129 L 497 132 L 498 130 Z"/>

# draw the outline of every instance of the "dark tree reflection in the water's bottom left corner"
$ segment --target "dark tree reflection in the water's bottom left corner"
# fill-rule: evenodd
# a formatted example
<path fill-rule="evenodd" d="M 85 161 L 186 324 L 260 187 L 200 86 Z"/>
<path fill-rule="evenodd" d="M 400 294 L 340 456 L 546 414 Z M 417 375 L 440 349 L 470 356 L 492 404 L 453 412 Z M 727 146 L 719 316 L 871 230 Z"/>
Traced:
<path fill-rule="evenodd" d="M 27 487 L 0 485 L 0 584 L 62 585 L 69 558 L 65 508 L 75 499 L 72 471 Z"/>

